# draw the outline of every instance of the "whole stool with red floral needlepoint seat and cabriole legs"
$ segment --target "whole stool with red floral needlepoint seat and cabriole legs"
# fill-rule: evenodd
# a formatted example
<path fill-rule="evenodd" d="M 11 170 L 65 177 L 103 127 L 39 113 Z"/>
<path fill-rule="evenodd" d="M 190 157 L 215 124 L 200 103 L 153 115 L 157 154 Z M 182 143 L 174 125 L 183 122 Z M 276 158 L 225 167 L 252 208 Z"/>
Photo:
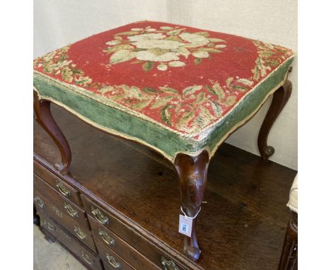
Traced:
<path fill-rule="evenodd" d="M 272 155 L 267 134 L 291 93 L 293 57 L 290 49 L 236 35 L 131 23 L 35 59 L 35 115 L 60 148 L 62 173 L 69 171 L 71 152 L 47 102 L 161 153 L 184 183 L 182 197 L 194 194 L 184 199 L 183 210 L 197 216 L 209 159 L 280 89 L 259 137 L 262 157 Z M 193 184 L 192 191 L 193 178 L 203 184 Z M 197 247 L 196 240 L 188 245 Z"/>

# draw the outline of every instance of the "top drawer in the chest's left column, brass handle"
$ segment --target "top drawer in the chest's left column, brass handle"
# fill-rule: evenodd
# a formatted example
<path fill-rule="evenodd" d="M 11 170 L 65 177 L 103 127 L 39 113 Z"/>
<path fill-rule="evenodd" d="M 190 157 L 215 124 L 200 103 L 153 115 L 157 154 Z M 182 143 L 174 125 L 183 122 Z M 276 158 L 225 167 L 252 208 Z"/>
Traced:
<path fill-rule="evenodd" d="M 56 189 L 74 204 L 78 206 L 83 206 L 83 204 L 81 203 L 79 192 L 74 189 L 74 187 L 71 187 L 69 184 L 66 184 L 66 182 L 59 179 L 59 177 L 54 175 L 49 170 L 42 168 L 42 166 L 39 165 L 36 161 L 33 161 L 33 172 L 35 175 L 39 176 L 42 180 L 50 184 L 51 187 Z"/>

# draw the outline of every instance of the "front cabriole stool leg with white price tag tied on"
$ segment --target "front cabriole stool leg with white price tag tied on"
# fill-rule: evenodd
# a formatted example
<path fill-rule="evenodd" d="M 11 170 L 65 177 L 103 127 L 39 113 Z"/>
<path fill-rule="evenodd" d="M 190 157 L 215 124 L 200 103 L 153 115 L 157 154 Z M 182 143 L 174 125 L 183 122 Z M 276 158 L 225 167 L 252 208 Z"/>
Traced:
<path fill-rule="evenodd" d="M 182 197 L 182 210 L 189 217 L 197 215 L 201 208 L 207 184 L 207 169 L 209 154 L 203 151 L 197 156 L 178 154 L 175 158 L 175 169 L 180 178 L 180 193 Z M 196 261 L 201 251 L 197 243 L 197 218 L 193 219 L 192 235 L 185 236 L 184 252 L 187 257 Z"/>

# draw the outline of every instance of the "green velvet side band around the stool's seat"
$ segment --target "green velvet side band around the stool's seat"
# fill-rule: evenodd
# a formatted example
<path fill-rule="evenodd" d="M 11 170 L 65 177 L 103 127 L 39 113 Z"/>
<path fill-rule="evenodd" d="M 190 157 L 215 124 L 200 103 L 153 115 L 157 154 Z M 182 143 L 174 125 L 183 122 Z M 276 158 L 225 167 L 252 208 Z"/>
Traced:
<path fill-rule="evenodd" d="M 152 148 L 158 149 L 165 155 L 165 158 L 173 160 L 178 152 L 196 153 L 202 148 L 209 148 L 210 151 L 213 151 L 223 136 L 226 136 L 238 122 L 248 117 L 268 93 L 284 79 L 292 61 L 293 59 L 287 60 L 255 90 L 246 95 L 240 104 L 216 124 L 202 141 L 180 136 L 158 124 L 134 117 L 127 112 L 88 98 L 86 95 L 76 93 L 50 80 L 47 76 L 35 73 L 33 84 L 42 98 L 56 101 L 59 105 L 73 110 L 98 126 L 108 129 L 110 133 L 115 131 L 126 137 L 145 142 Z"/>

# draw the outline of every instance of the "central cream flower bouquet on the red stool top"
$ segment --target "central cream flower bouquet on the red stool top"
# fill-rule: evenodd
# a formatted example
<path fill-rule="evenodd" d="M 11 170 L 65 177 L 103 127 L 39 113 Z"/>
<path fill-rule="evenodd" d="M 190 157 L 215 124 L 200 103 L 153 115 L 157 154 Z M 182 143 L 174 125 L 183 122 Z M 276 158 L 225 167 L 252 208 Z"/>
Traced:
<path fill-rule="evenodd" d="M 106 42 L 110 47 L 104 52 L 111 54 L 110 64 L 135 59 L 132 64 L 141 64 L 144 71 L 153 69 L 154 62 L 159 71 L 166 71 L 169 66 L 185 66 L 190 54 L 195 57 L 194 63 L 200 64 L 212 53 L 222 52 L 226 45 L 216 44 L 220 42 L 225 40 L 209 37 L 208 32 L 187 33 L 179 26 L 161 26 L 158 30 L 147 26 L 115 34 L 114 40 Z"/>

